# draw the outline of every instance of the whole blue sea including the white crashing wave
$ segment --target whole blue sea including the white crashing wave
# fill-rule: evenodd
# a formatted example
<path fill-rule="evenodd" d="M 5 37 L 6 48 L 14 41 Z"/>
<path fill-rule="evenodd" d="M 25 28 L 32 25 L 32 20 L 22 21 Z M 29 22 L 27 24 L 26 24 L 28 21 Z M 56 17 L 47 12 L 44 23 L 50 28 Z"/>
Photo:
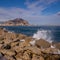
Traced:
<path fill-rule="evenodd" d="M 60 26 L 3 26 L 3 28 L 36 39 L 45 39 L 48 42 L 60 42 Z"/>

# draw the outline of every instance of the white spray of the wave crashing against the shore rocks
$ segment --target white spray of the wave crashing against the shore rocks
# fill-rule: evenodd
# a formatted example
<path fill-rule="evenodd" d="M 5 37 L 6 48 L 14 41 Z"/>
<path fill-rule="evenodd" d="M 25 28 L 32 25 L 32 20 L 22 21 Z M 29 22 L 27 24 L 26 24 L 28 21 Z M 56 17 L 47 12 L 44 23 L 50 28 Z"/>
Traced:
<path fill-rule="evenodd" d="M 44 39 L 48 41 L 49 43 L 52 43 L 52 34 L 50 30 L 38 30 L 37 33 L 33 35 L 33 38 L 39 40 Z"/>

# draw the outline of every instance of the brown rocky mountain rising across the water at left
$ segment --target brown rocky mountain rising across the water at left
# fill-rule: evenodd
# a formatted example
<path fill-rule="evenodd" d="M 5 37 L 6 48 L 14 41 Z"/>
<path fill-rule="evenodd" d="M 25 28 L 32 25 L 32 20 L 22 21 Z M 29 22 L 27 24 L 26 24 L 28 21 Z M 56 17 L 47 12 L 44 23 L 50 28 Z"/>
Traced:
<path fill-rule="evenodd" d="M 16 18 L 14 20 L 6 21 L 0 25 L 1 26 L 29 26 L 30 24 L 26 20 L 23 20 L 21 18 Z"/>

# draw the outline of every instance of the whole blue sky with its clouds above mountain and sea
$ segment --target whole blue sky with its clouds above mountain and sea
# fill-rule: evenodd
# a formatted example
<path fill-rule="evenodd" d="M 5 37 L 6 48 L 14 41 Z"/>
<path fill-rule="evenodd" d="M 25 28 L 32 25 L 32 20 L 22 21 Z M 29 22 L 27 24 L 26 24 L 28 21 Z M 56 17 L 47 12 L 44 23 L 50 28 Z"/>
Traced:
<path fill-rule="evenodd" d="M 15 18 L 31 24 L 60 25 L 60 0 L 0 0 L 0 21 Z"/>

